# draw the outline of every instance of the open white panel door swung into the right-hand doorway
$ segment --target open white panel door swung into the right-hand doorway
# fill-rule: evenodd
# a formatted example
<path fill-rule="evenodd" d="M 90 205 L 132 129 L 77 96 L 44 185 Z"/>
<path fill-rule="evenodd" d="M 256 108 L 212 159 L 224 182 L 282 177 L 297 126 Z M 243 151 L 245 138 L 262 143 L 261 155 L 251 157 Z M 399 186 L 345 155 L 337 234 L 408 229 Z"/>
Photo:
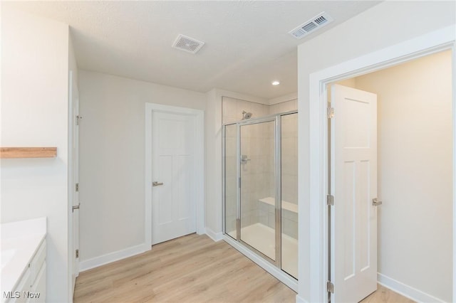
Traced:
<path fill-rule="evenodd" d="M 377 96 L 333 85 L 331 106 L 331 302 L 377 289 Z"/>

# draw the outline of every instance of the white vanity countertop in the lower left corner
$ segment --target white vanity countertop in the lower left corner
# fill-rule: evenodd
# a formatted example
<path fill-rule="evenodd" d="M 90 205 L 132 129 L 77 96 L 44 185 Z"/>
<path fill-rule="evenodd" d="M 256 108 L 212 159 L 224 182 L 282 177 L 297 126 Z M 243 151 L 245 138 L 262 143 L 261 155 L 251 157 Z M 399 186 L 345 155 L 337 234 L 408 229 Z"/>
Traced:
<path fill-rule="evenodd" d="M 0 294 L 14 292 L 46 237 L 46 217 L 0 225 Z M 2 301 L 4 300 L 2 296 Z"/>

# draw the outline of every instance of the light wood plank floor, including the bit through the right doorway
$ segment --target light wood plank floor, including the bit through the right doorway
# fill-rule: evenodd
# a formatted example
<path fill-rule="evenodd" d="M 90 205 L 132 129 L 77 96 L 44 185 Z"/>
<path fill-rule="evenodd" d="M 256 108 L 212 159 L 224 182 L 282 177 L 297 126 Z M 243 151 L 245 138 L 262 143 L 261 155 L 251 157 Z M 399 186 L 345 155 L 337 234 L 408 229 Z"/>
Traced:
<path fill-rule="evenodd" d="M 74 302 L 296 302 L 296 293 L 224 241 L 186 235 L 81 272 Z M 412 303 L 378 285 L 363 303 Z"/>

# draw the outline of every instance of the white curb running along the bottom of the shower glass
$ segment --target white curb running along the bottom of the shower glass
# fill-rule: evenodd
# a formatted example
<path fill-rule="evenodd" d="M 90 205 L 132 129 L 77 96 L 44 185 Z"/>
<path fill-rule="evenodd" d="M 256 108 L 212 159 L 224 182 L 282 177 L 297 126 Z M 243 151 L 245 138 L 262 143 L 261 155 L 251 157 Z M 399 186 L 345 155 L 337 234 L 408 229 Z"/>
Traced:
<path fill-rule="evenodd" d="M 233 240 L 233 238 L 229 235 L 223 235 L 223 240 L 229 245 L 232 245 L 233 248 L 236 248 L 242 253 L 242 255 L 245 255 L 250 260 L 257 263 L 257 265 L 266 270 L 266 272 L 269 272 L 271 275 L 279 279 L 279 281 L 284 283 L 284 285 L 293 289 L 294 292 L 298 292 L 298 281 L 277 268 L 276 265 L 266 261 L 263 257 L 260 257 L 255 252 L 252 252 L 252 250 L 249 250 L 249 248 L 246 248 L 244 245 L 237 242 L 237 240 Z"/>

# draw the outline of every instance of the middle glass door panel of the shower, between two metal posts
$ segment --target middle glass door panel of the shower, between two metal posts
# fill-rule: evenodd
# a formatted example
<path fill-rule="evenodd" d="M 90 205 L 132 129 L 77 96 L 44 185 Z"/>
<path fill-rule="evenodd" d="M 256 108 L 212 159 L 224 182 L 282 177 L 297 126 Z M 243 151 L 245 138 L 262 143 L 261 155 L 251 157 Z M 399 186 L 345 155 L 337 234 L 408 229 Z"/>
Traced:
<path fill-rule="evenodd" d="M 275 252 L 274 121 L 241 126 L 241 240 Z"/>

